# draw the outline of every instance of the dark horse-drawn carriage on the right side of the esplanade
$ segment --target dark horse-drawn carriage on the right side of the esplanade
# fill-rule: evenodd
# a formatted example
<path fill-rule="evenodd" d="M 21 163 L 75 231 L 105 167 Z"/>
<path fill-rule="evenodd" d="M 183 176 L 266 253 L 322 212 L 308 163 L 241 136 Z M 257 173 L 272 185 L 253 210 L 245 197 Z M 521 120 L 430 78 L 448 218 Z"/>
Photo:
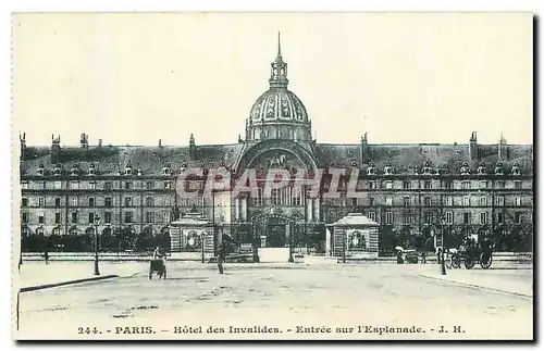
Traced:
<path fill-rule="evenodd" d="M 493 248 L 487 240 L 482 240 L 479 243 L 468 241 L 459 250 L 449 249 L 445 261 L 448 268 L 460 268 L 461 262 L 463 262 L 467 269 L 471 269 L 477 263 L 482 268 L 487 269 L 493 263 Z"/>

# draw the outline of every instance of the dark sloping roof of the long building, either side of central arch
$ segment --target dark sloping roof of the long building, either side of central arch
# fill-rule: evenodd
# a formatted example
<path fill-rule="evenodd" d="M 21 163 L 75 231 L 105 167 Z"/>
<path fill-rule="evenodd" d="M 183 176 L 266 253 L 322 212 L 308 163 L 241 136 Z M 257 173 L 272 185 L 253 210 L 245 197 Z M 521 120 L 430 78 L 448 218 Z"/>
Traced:
<path fill-rule="evenodd" d="M 62 172 L 70 174 L 74 164 L 82 174 L 87 174 L 90 164 L 97 167 L 98 175 L 116 175 L 127 164 L 134 171 L 141 170 L 143 175 L 161 175 L 165 162 L 170 163 L 173 173 L 185 166 L 214 167 L 225 165 L 233 167 L 236 160 L 246 150 L 244 143 L 202 145 L 197 146 L 196 158 L 190 161 L 189 147 L 175 146 L 103 146 L 89 147 L 88 150 L 75 147 L 62 147 L 59 151 L 59 163 Z M 364 149 L 364 151 L 363 151 Z M 467 162 L 471 174 L 481 162 L 484 162 L 489 174 L 493 173 L 499 161 L 497 145 L 479 145 L 478 156 L 470 160 L 469 146 L 465 145 L 430 145 L 430 143 L 374 143 L 332 145 L 317 143 L 314 147 L 319 167 L 351 167 L 356 164 L 366 170 L 370 163 L 382 174 L 390 164 L 395 174 L 413 175 L 429 161 L 430 166 L 440 170 L 441 174 L 459 174 L 463 162 Z M 531 145 L 508 145 L 507 160 L 503 160 L 505 174 L 518 163 L 521 175 L 533 174 L 533 147 Z M 361 160 L 362 158 L 362 160 Z M 50 147 L 27 147 L 21 170 L 24 175 L 37 175 L 40 163 L 48 173 L 57 166 L 51 162 Z M 46 174 L 48 174 L 46 173 Z"/>

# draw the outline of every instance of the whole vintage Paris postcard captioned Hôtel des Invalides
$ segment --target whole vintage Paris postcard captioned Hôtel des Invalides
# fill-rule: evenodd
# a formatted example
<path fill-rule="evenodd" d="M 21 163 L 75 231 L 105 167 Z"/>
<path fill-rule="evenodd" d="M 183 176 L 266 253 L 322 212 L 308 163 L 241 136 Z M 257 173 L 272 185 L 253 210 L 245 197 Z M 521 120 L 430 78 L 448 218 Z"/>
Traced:
<path fill-rule="evenodd" d="M 13 338 L 532 340 L 533 21 L 13 14 Z"/>

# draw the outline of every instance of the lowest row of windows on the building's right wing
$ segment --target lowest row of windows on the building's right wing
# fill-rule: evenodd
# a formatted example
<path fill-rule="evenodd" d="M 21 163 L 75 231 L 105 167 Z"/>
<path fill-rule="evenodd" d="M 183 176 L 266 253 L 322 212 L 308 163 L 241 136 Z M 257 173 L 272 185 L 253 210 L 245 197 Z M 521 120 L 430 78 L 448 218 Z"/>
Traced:
<path fill-rule="evenodd" d="M 415 217 L 411 213 L 403 213 L 403 214 L 398 214 L 397 215 L 401 215 L 403 218 L 401 218 L 401 223 L 403 224 L 413 224 L 415 223 Z M 497 213 L 497 224 L 503 224 L 505 223 L 505 215 L 504 213 Z M 376 213 L 375 212 L 368 212 L 367 213 L 367 216 L 372 220 L 372 221 L 376 221 Z M 385 212 L 385 224 L 394 224 L 395 223 L 395 215 L 393 212 Z M 520 224 L 522 222 L 522 218 L 523 218 L 523 213 L 521 212 L 516 212 L 514 214 L 514 222 L 517 223 L 517 224 Z M 481 212 L 479 214 L 479 224 L 487 224 L 489 223 L 489 213 L 487 212 Z M 436 215 L 434 213 L 423 213 L 423 222 L 424 223 L 429 223 L 429 224 L 432 224 L 432 223 L 437 223 L 437 218 L 436 218 Z M 445 223 L 447 225 L 450 225 L 450 224 L 454 224 L 454 213 L 453 212 L 446 212 L 445 213 Z M 462 213 L 462 224 L 472 224 L 472 212 L 465 212 Z"/>

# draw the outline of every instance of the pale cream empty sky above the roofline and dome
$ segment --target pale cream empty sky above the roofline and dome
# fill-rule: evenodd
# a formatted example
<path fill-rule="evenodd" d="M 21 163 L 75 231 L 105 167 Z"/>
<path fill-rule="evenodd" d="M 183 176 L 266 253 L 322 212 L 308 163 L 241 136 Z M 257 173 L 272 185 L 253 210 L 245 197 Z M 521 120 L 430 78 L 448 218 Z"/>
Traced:
<path fill-rule="evenodd" d="M 13 134 L 29 146 L 82 133 L 235 143 L 277 32 L 318 142 L 533 142 L 527 13 L 35 13 L 12 26 Z"/>

